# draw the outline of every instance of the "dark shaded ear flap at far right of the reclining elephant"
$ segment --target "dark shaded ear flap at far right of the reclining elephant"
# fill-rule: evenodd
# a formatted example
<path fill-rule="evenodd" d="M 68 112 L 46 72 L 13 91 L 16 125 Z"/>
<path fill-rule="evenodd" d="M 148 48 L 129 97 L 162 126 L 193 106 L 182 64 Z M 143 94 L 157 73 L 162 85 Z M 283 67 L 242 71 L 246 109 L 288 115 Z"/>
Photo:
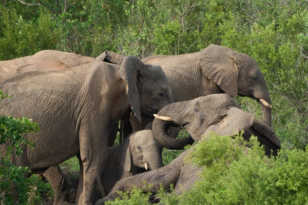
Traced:
<path fill-rule="evenodd" d="M 274 130 L 268 127 L 264 122 L 258 119 L 254 119 L 254 123 L 249 131 L 258 137 L 258 141 L 265 148 L 265 154 L 267 156 L 272 154 L 277 155 L 277 151 L 281 148 L 280 139 L 274 132 Z"/>

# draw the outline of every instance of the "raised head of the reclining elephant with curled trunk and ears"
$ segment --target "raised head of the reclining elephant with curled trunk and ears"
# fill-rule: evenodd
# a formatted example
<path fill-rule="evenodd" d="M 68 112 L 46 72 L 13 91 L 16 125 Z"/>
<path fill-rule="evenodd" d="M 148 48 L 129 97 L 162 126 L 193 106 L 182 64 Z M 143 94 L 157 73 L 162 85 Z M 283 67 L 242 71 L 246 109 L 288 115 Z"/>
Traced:
<path fill-rule="evenodd" d="M 255 134 L 264 145 L 266 154 L 274 154 L 280 149 L 280 140 L 272 128 L 242 111 L 228 94 L 213 94 L 189 101 L 173 103 L 164 107 L 153 121 L 152 131 L 163 147 L 182 149 L 187 139 L 168 137 L 169 126 L 182 126 L 195 140 L 210 131 L 218 135 L 234 135 L 241 130 Z"/>

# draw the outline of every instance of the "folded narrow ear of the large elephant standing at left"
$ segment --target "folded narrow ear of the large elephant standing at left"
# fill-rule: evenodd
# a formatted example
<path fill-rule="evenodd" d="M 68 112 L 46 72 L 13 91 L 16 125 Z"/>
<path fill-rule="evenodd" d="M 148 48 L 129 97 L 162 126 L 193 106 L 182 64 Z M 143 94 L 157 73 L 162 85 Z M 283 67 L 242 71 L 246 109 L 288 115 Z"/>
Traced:
<path fill-rule="evenodd" d="M 119 69 L 120 75 L 126 81 L 128 86 L 128 100 L 131 105 L 131 111 L 141 122 L 140 111 L 140 76 L 142 69 L 146 69 L 140 59 L 135 56 L 126 56 L 123 59 Z"/>

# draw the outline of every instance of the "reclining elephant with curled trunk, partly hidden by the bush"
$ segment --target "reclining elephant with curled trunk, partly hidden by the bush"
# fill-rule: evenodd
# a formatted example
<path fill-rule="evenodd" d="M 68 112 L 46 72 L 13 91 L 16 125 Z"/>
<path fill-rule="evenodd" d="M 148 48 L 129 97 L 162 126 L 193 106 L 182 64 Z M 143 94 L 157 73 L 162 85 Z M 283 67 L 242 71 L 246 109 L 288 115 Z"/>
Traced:
<path fill-rule="evenodd" d="M 265 147 L 266 155 L 277 155 L 280 149 L 280 140 L 273 131 L 264 122 L 255 119 L 252 115 L 240 110 L 239 106 L 228 94 L 214 94 L 205 97 L 199 97 L 194 100 L 173 103 L 164 107 L 158 117 L 167 117 L 165 121 L 156 118 L 153 121 L 152 131 L 158 142 L 169 149 L 175 149 L 180 139 L 168 137 L 166 129 L 171 125 L 183 126 L 195 141 L 207 136 L 211 131 L 218 135 L 234 135 L 241 130 L 245 130 L 244 138 L 248 139 L 253 133 L 258 137 L 261 145 Z M 118 181 L 111 192 L 96 204 L 103 204 L 105 201 L 115 197 L 117 190 L 129 191 L 133 187 L 142 188 L 145 192 L 157 192 L 162 183 L 168 190 L 171 183 L 174 183 L 175 191 L 181 194 L 189 189 L 196 180 L 199 180 L 198 173 L 201 168 L 196 168 L 191 163 L 183 163 L 183 158 L 187 156 L 193 148 L 190 148 L 173 160 L 169 165 L 155 171 L 138 174 Z M 145 187 L 152 184 L 153 186 Z"/>

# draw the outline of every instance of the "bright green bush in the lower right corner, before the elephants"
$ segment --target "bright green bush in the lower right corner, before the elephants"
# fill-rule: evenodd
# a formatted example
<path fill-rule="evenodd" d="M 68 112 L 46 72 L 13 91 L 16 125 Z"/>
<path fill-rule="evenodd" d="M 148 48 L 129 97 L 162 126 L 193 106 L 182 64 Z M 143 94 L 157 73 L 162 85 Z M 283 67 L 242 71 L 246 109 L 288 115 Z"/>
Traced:
<path fill-rule="evenodd" d="M 222 139 L 216 142 L 220 141 Z M 307 152 L 298 149 L 282 150 L 277 159 L 267 158 L 264 157 L 264 150 L 255 137 L 251 139 L 251 149 L 241 149 L 239 146 L 239 149 L 234 149 L 231 141 L 229 139 L 229 142 L 222 143 L 229 145 L 221 157 L 213 155 L 204 145 L 206 142 L 200 142 L 196 153 L 202 150 L 202 154 L 207 155 L 209 159 L 203 163 L 198 162 L 199 166 L 205 167 L 201 174 L 202 180 L 181 197 L 176 196 L 180 204 L 186 204 L 188 201 L 190 204 L 308 202 L 308 177 L 305 171 L 308 168 Z M 209 147 L 215 147 L 211 142 L 209 144 Z M 194 161 L 199 161 L 200 156 L 202 155 L 197 154 Z"/>

